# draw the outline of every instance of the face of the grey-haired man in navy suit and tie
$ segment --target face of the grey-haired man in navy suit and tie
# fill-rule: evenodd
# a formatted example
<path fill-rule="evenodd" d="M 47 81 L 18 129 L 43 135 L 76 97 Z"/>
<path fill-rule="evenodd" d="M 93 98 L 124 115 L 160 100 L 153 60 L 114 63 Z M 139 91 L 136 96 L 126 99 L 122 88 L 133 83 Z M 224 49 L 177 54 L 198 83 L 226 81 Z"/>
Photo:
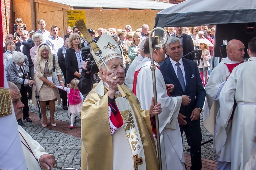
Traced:
<path fill-rule="evenodd" d="M 175 42 L 174 44 L 170 44 L 167 47 L 166 53 L 170 56 L 173 61 L 180 61 L 182 56 L 182 46 L 179 41 Z"/>

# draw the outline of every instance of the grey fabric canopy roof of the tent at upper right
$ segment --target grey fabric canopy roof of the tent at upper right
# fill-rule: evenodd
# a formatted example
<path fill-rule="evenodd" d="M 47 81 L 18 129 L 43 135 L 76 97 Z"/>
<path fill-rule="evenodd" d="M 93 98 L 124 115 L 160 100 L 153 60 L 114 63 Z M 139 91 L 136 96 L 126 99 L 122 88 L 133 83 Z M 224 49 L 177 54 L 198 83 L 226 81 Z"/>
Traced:
<path fill-rule="evenodd" d="M 155 27 L 256 22 L 255 0 L 186 0 L 156 14 Z"/>

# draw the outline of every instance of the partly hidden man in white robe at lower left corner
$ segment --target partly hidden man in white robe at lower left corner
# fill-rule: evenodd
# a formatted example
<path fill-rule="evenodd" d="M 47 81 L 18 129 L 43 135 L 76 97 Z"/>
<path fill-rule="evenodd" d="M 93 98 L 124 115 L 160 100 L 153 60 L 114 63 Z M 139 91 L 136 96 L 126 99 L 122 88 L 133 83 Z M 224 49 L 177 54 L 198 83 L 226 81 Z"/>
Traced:
<path fill-rule="evenodd" d="M 24 105 L 20 101 L 21 95 L 19 89 L 10 81 L 8 81 L 8 86 L 16 119 L 21 119 L 23 117 L 22 110 Z M 55 157 L 45 152 L 44 148 L 37 141 L 33 140 L 31 136 L 19 125 L 18 131 L 28 170 L 41 170 L 40 166 L 42 166 L 43 169 L 46 168 L 47 170 L 50 170 L 50 168 L 56 163 Z M 31 153 L 27 146 L 29 146 L 33 153 Z M 39 161 L 40 166 L 36 158 Z"/>

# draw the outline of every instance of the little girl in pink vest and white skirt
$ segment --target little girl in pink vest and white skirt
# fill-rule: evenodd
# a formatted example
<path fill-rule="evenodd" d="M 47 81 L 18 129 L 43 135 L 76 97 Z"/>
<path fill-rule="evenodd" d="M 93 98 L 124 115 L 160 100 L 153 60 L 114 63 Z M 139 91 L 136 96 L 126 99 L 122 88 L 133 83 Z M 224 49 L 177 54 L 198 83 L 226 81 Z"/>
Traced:
<path fill-rule="evenodd" d="M 71 114 L 70 119 L 70 128 L 73 128 L 75 116 L 81 112 L 81 108 L 83 105 L 83 95 L 77 88 L 77 84 L 79 83 L 79 80 L 74 78 L 70 84 L 67 84 L 67 87 L 64 88 L 64 90 L 68 93 L 68 99 L 69 99 L 69 108 L 68 108 L 68 114 Z"/>

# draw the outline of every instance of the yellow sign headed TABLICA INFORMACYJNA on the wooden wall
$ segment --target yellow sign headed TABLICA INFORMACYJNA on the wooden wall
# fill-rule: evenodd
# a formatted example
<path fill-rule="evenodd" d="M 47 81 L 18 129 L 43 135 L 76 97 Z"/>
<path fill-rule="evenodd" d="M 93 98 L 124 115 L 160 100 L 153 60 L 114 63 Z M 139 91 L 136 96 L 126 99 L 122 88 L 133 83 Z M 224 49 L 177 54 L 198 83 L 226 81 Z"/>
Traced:
<path fill-rule="evenodd" d="M 75 21 L 78 19 L 83 19 L 84 23 L 85 21 L 85 11 L 76 11 L 76 10 L 69 10 L 67 12 L 67 18 L 68 18 L 68 27 L 71 27 L 71 29 L 74 27 Z"/>

